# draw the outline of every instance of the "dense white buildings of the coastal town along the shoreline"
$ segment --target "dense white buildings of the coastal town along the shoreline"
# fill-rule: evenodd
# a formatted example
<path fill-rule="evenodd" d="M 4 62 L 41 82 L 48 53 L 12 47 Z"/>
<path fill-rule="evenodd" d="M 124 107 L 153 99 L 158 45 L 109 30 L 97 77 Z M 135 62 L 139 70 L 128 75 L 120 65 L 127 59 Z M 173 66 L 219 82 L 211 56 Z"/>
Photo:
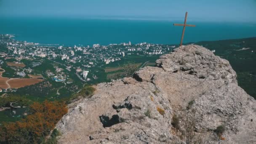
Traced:
<path fill-rule="evenodd" d="M 91 72 L 93 67 L 102 67 L 110 64 L 114 61 L 120 61 L 125 56 L 139 55 L 139 56 L 153 56 L 162 55 L 169 52 L 173 45 L 158 45 L 149 43 L 131 44 L 109 44 L 99 45 L 94 44 L 92 46 L 74 45 L 72 47 L 66 47 L 63 45 L 40 45 L 39 43 L 27 43 L 26 41 L 14 40 L 13 35 L 0 35 L 0 43 L 7 48 L 6 52 L 1 51 L 0 57 L 4 58 L 0 61 L 3 63 L 6 59 L 16 59 L 13 61 L 15 64 L 20 64 L 21 59 L 48 59 L 55 61 L 65 66 L 65 69 L 75 69 L 77 76 L 84 81 L 90 81 L 96 79 L 97 76 L 88 77 L 88 73 Z M 33 63 L 33 67 L 40 65 L 38 62 Z M 56 82 L 63 82 L 66 77 L 63 68 L 55 67 L 56 73 L 47 72 L 48 76 L 51 76 Z M 16 75 L 25 77 L 33 70 L 31 68 L 15 69 Z"/>

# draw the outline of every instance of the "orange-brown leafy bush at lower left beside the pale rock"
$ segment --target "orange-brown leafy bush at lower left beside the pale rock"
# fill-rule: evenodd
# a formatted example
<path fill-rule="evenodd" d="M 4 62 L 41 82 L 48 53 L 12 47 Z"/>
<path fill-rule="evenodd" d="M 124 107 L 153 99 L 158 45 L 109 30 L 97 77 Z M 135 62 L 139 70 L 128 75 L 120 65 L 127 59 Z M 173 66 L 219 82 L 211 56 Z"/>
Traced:
<path fill-rule="evenodd" d="M 32 115 L 16 123 L 0 125 L 0 143 L 41 143 L 67 113 L 67 107 L 64 102 L 59 101 L 44 101 L 42 104 L 34 102 L 30 111 Z"/>

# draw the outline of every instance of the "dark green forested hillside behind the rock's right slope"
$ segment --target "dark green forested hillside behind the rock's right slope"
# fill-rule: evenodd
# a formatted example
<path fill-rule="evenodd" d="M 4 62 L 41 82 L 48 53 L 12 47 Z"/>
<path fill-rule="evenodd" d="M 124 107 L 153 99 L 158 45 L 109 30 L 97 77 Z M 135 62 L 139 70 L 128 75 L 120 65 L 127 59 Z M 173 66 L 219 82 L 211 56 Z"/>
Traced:
<path fill-rule="evenodd" d="M 195 44 L 215 50 L 214 54 L 227 59 L 237 72 L 238 85 L 256 99 L 256 37 Z"/>

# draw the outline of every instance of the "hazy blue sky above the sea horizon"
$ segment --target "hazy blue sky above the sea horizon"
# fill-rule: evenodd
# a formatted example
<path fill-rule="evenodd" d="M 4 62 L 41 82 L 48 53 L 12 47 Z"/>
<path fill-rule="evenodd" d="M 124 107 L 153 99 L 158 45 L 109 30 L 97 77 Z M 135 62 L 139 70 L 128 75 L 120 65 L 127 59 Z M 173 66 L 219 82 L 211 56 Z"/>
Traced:
<path fill-rule="evenodd" d="M 0 16 L 256 21 L 256 0 L 0 0 Z"/>

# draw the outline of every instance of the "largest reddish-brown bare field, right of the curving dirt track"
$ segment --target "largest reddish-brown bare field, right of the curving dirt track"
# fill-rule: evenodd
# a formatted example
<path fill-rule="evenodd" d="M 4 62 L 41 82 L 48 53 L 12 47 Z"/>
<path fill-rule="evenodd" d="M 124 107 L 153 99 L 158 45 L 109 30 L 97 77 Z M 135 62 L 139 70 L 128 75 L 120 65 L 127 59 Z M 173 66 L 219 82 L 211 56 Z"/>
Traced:
<path fill-rule="evenodd" d="M 21 88 L 27 85 L 34 85 L 36 83 L 40 83 L 43 80 L 37 78 L 19 78 L 19 79 L 11 79 L 8 81 L 8 84 L 11 88 Z"/>

